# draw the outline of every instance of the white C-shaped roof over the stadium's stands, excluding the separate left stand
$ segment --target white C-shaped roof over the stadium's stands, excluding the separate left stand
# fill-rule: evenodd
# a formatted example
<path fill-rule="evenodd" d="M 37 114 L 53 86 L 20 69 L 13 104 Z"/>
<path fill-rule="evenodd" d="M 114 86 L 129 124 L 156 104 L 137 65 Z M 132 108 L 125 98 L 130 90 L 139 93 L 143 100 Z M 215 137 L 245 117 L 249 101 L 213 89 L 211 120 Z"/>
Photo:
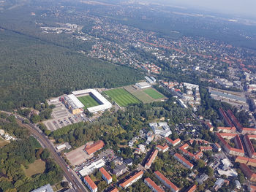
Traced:
<path fill-rule="evenodd" d="M 75 97 L 86 96 L 86 95 L 90 95 L 91 97 L 93 97 L 99 103 L 99 105 L 87 108 L 87 110 L 89 110 L 89 112 L 92 112 L 92 113 L 99 112 L 99 111 L 105 111 L 112 107 L 112 104 L 110 103 L 110 101 L 105 99 L 105 97 L 102 96 L 95 89 L 84 89 L 84 90 L 80 90 L 80 91 L 73 91 L 72 94 Z"/>

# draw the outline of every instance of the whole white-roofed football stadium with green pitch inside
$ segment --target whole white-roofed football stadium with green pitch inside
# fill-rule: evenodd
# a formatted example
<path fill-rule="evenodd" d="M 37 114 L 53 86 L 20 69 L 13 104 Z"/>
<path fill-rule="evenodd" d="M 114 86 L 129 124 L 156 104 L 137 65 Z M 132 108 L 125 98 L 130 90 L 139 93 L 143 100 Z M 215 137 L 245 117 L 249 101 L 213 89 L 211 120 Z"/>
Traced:
<path fill-rule="evenodd" d="M 64 103 L 74 115 L 82 113 L 85 108 L 94 113 L 112 107 L 112 104 L 95 89 L 73 91 L 72 94 L 64 96 Z"/>

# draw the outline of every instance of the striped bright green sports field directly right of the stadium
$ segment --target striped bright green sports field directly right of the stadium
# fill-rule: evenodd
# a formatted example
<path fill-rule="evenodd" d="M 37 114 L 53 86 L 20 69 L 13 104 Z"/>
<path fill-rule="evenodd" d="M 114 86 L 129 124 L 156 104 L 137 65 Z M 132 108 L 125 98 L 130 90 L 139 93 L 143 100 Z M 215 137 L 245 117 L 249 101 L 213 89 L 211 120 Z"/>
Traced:
<path fill-rule="evenodd" d="M 105 91 L 105 93 L 121 107 L 126 107 L 128 104 L 140 103 L 135 96 L 132 96 L 132 94 L 124 90 L 124 88 L 111 89 L 109 91 Z"/>

